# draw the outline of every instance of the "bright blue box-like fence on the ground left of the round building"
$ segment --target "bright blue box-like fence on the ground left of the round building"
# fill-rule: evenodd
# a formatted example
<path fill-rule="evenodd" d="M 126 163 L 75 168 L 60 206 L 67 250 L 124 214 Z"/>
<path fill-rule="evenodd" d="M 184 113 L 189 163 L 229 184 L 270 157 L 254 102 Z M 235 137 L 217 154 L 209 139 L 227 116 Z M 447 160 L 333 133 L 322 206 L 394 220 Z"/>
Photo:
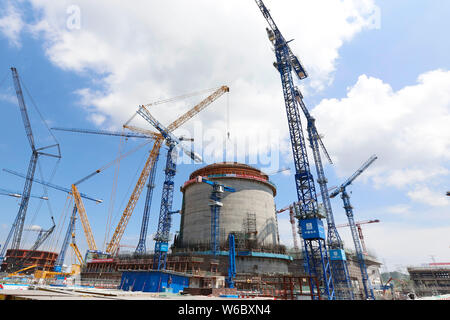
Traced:
<path fill-rule="evenodd" d="M 162 271 L 124 271 L 120 290 L 178 293 L 189 287 L 189 277 Z"/>

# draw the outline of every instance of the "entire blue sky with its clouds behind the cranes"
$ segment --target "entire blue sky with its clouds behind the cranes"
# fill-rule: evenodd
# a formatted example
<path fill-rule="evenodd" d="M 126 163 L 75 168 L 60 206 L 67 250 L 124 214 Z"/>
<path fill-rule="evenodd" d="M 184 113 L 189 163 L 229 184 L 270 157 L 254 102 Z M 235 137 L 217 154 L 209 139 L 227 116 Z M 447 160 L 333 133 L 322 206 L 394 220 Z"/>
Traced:
<path fill-rule="evenodd" d="M 444 32 L 450 27 L 448 1 L 266 1 L 266 5 L 284 36 L 295 39 L 291 47 L 309 72 L 310 77 L 299 85 L 334 160 L 333 166 L 326 166 L 328 185 L 339 185 L 372 154 L 378 155 L 350 187 L 355 219 L 381 220 L 363 226 L 369 250 L 390 269 L 431 262 L 430 256 L 449 261 L 450 203 L 445 192 L 450 174 L 450 44 Z M 79 12 L 75 18 L 80 20 L 74 20 L 74 12 Z M 301 19 L 296 12 L 303 13 Z M 0 167 L 24 173 L 31 154 L 11 66 L 18 69 L 31 95 L 25 98 L 39 146 L 52 140 L 31 99 L 50 127 L 118 130 L 138 104 L 228 85 L 227 97 L 214 102 L 177 134 L 195 136 L 201 128 L 206 140 L 213 137 L 214 141 L 214 134 L 226 133 L 229 121 L 232 141 L 257 139 L 249 153 L 257 154 L 256 146 L 260 151 L 275 150 L 272 167 L 293 167 L 280 81 L 271 65 L 274 56 L 265 27 L 253 1 L 214 4 L 199 0 L 189 6 L 143 1 L 133 8 L 107 1 L 2 2 Z M 168 124 L 203 97 L 155 106 L 155 115 Z M 136 125 L 150 129 L 142 120 L 136 119 Z M 62 186 L 69 187 L 118 155 L 117 137 L 53 134 L 61 144 L 62 159 L 52 181 Z M 131 150 L 139 143 L 130 140 L 124 148 Z M 216 150 L 223 149 L 218 141 L 208 146 L 214 143 Z M 202 151 L 201 145 L 196 148 Z M 120 164 L 110 236 L 148 149 L 142 148 Z M 165 150 L 153 195 L 148 249 L 153 249 L 151 234 L 156 230 L 164 161 Z M 42 160 L 44 177 L 50 177 L 55 163 Z M 198 167 L 180 164 L 174 208 L 181 205 L 178 187 Z M 22 190 L 20 178 L 3 171 L 0 177 L 0 187 Z M 80 185 L 80 191 L 104 200 L 102 204 L 85 201 L 99 247 L 105 238 L 113 178 L 114 167 L 110 167 Z M 278 188 L 277 207 L 291 203 L 296 194 L 292 175 L 285 172 L 271 179 Z M 40 192 L 42 187 L 34 185 L 33 193 Z M 48 228 L 50 214 L 61 221 L 59 233 L 48 244 L 47 249 L 53 249 L 58 235 L 65 232 L 62 217 L 70 210 L 65 194 L 49 189 L 49 196 L 50 205 L 31 201 L 25 224 Z M 123 244 L 137 243 L 144 197 L 145 191 Z M 3 243 L 19 202 L 7 197 L 0 201 Z M 332 205 L 336 222 L 345 223 L 341 199 L 333 199 Z M 288 217 L 281 214 L 279 224 L 282 241 L 292 245 Z M 178 228 L 176 215 L 172 232 Z M 349 230 L 341 229 L 341 236 L 353 248 Z M 31 242 L 34 237 L 28 232 L 25 240 Z M 77 239 L 84 251 L 80 224 Z"/>

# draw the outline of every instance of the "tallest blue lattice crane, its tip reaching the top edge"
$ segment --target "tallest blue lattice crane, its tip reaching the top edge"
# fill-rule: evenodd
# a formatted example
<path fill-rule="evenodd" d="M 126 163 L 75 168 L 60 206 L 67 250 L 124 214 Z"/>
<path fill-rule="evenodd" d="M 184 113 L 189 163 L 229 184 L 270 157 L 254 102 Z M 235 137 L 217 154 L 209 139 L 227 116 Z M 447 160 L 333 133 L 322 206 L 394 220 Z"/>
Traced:
<path fill-rule="evenodd" d="M 306 272 L 311 277 L 319 279 L 322 287 L 322 296 L 329 300 L 335 299 L 334 284 L 331 266 L 328 257 L 323 222 L 319 216 L 317 195 L 314 178 L 311 174 L 305 138 L 303 136 L 300 110 L 296 100 L 296 90 L 292 72 L 299 80 L 305 79 L 308 74 L 300 60 L 292 53 L 286 41 L 273 21 L 269 10 L 261 0 L 255 0 L 264 18 L 269 24 L 266 28 L 276 56 L 275 68 L 280 73 L 283 96 L 285 101 L 289 134 L 291 138 L 292 154 L 295 164 L 295 186 L 300 206 L 300 215 L 297 216 L 301 235 L 304 241 L 304 259 Z M 320 288 L 311 282 L 313 292 Z M 317 296 L 316 296 L 317 297 Z"/>

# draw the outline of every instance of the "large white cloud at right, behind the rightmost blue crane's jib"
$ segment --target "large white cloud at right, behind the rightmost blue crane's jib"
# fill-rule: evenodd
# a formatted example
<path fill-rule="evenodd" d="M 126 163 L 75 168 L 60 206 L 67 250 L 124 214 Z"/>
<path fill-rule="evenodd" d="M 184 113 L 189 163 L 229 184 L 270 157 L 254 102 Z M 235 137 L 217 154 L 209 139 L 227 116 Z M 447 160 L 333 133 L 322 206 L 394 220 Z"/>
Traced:
<path fill-rule="evenodd" d="M 410 196 L 419 200 L 417 190 L 444 187 L 450 174 L 450 71 L 430 71 L 417 82 L 395 92 L 362 75 L 347 97 L 324 99 L 314 108 L 340 176 L 375 153 L 378 160 L 360 179 L 371 177 L 378 188 L 415 188 Z"/>

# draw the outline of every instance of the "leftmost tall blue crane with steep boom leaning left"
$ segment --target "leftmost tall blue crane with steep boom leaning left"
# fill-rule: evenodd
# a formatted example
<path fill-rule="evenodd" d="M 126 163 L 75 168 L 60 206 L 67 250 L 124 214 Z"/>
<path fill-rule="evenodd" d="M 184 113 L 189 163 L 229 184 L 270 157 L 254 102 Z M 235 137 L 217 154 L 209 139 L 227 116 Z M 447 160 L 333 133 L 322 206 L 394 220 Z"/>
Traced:
<path fill-rule="evenodd" d="M 6 237 L 5 244 L 3 245 L 2 251 L 0 253 L 0 263 L 3 262 L 3 260 L 5 258 L 5 252 L 6 252 L 6 249 L 8 248 L 8 243 L 11 240 L 11 237 L 13 238 L 12 244 L 11 244 L 11 249 L 17 250 L 20 248 L 20 242 L 22 240 L 22 232 L 23 232 L 23 226 L 24 226 L 24 222 L 25 222 L 25 216 L 26 216 L 27 209 L 28 209 L 28 203 L 30 201 L 33 177 L 34 177 L 34 173 L 36 171 L 36 166 L 37 166 L 37 161 L 38 161 L 39 156 L 43 155 L 43 156 L 49 156 L 49 157 L 54 157 L 54 158 L 58 158 L 58 159 L 61 158 L 59 144 L 53 144 L 53 145 L 49 145 L 46 147 L 36 148 L 36 145 L 34 143 L 33 131 L 31 129 L 31 123 L 30 123 L 30 119 L 28 117 L 27 107 L 25 105 L 25 99 L 23 97 L 22 87 L 20 84 L 19 74 L 17 72 L 17 69 L 14 67 L 11 68 L 11 72 L 12 72 L 12 78 L 13 78 L 14 87 L 15 87 L 16 95 L 17 95 L 17 100 L 18 100 L 18 104 L 19 104 L 19 108 L 20 108 L 20 113 L 22 116 L 22 121 L 23 121 L 23 124 L 25 127 L 25 132 L 26 132 L 27 139 L 30 144 L 32 153 L 31 153 L 30 162 L 28 164 L 28 171 L 27 171 L 25 185 L 24 185 L 23 192 L 22 192 L 19 211 L 16 215 L 16 218 L 14 219 L 14 222 L 11 226 L 11 230 L 8 233 L 8 236 Z M 57 154 L 44 152 L 47 149 L 54 148 L 54 147 L 57 148 Z"/>

